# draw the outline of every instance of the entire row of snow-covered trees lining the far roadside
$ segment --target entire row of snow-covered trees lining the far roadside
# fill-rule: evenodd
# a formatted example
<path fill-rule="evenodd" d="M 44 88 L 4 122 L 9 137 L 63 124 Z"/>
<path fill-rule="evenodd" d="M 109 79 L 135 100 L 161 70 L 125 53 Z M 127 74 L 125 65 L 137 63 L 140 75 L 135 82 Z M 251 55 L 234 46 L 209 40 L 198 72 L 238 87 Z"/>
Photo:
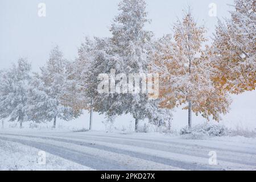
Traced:
<path fill-rule="evenodd" d="M 232 18 L 218 22 L 213 43 L 205 46 L 206 30 L 196 24 L 191 11 L 174 25 L 174 35 L 155 39 L 144 30 L 147 19 L 143 0 L 122 0 L 120 13 L 110 27 L 110 38 L 86 38 L 75 61 L 67 61 L 58 47 L 40 73 L 31 73 L 24 59 L 0 72 L 0 118 L 45 122 L 71 120 L 82 110 L 108 118 L 130 113 L 135 130 L 141 119 L 155 125 L 171 122 L 171 109 L 186 104 L 188 125 L 192 112 L 220 121 L 228 112 L 230 93 L 256 86 L 255 6 L 253 0 L 235 1 Z M 159 73 L 160 97 L 147 94 L 100 94 L 98 75 L 110 73 Z"/>

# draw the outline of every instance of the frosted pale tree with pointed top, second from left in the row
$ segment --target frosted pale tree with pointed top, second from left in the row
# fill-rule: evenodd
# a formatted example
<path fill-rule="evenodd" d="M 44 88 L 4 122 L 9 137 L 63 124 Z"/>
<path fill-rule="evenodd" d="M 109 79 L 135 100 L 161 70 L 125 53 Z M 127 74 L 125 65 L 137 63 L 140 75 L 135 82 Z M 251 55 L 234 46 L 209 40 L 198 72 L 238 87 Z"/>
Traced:
<path fill-rule="evenodd" d="M 80 115 L 63 101 L 69 63 L 63 58 L 59 47 L 52 49 L 46 66 L 35 74 L 29 89 L 31 120 L 36 122 L 52 121 L 56 127 L 56 119 L 69 121 Z"/>

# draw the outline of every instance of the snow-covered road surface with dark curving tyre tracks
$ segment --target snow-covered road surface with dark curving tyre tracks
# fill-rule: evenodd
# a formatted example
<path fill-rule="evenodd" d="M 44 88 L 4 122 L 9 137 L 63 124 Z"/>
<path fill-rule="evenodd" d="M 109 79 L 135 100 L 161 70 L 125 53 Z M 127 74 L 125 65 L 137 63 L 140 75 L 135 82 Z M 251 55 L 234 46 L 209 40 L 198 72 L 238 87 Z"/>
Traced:
<path fill-rule="evenodd" d="M 38 148 L 96 170 L 256 170 L 253 138 L 188 140 L 155 133 L 0 130 L 0 140 Z"/>

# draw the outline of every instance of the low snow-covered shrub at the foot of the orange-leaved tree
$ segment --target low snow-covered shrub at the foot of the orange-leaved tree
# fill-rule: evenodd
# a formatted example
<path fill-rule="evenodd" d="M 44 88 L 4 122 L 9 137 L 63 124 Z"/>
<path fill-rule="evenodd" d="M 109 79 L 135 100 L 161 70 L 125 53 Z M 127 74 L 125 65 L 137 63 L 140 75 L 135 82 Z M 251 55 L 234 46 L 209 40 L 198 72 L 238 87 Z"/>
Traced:
<path fill-rule="evenodd" d="M 204 123 L 196 125 L 191 129 L 186 126 L 180 130 L 180 135 L 188 135 L 188 137 L 191 137 L 192 139 L 199 139 L 207 136 L 221 137 L 229 135 L 229 130 L 223 125 Z"/>

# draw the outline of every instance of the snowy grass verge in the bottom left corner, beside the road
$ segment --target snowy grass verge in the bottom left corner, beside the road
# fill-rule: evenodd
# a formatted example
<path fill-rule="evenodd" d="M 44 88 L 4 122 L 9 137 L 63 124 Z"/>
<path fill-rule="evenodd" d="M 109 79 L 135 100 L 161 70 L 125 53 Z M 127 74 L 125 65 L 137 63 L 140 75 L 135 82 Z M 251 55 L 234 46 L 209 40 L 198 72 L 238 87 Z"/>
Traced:
<path fill-rule="evenodd" d="M 0 140 L 0 146 L 0 170 L 2 171 L 93 170 L 47 152 L 44 164 L 43 160 L 40 162 L 43 156 L 40 150 L 23 144 Z"/>

